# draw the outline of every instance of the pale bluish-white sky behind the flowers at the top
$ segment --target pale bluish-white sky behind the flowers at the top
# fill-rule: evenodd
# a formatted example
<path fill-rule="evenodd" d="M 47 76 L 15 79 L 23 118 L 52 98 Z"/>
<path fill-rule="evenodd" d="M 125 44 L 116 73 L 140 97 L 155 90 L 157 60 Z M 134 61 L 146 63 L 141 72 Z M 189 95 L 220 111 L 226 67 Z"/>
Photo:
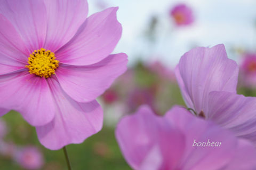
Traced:
<path fill-rule="evenodd" d="M 117 18 L 123 26 L 123 35 L 115 52 L 125 52 L 130 64 L 138 59 L 145 62 L 161 60 L 175 66 L 180 56 L 194 46 L 213 46 L 223 43 L 230 58 L 233 46 L 256 51 L 255 0 L 88 0 L 89 15 L 101 11 L 97 2 L 106 7 L 119 6 Z M 188 4 L 195 13 L 195 23 L 186 28 L 175 28 L 168 16 L 170 8 L 178 3 Z M 143 38 L 150 18 L 160 18 L 157 43 L 151 45 Z M 230 56 L 231 55 L 231 56 Z"/>

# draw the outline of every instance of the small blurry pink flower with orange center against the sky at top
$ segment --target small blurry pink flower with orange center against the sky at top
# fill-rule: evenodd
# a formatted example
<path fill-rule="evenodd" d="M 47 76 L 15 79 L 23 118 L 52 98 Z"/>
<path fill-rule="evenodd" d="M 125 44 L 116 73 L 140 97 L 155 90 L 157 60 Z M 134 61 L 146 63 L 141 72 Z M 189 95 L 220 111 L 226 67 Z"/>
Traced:
<path fill-rule="evenodd" d="M 193 11 L 185 4 L 178 4 L 170 11 L 177 26 L 187 26 L 194 22 Z"/>

